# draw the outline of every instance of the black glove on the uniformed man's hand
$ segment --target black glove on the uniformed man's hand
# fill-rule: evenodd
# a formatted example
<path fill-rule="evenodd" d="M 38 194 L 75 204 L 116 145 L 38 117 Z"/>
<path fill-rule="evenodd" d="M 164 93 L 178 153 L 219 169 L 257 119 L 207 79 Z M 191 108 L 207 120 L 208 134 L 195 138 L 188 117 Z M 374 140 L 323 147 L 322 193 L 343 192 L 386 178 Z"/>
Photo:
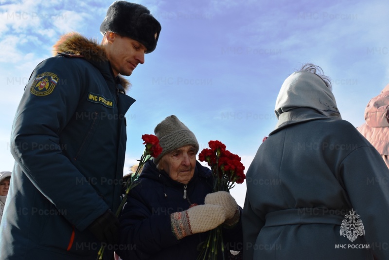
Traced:
<path fill-rule="evenodd" d="M 101 242 L 116 244 L 119 240 L 119 220 L 111 210 L 107 210 L 98 217 L 89 226 L 88 230 L 92 232 Z"/>

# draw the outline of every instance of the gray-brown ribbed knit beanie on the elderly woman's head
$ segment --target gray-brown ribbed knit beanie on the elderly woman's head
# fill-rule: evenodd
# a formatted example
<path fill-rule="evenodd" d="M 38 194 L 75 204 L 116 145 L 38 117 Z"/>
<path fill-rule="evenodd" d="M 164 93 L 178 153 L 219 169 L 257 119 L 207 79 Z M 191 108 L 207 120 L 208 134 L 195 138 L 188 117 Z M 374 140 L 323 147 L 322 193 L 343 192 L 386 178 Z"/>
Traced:
<path fill-rule="evenodd" d="M 189 130 L 177 116 L 166 117 L 154 129 L 155 135 L 159 139 L 159 145 L 162 153 L 157 158 L 153 158 L 155 164 L 158 164 L 163 155 L 183 146 L 192 145 L 198 152 L 198 142 L 195 134 Z"/>

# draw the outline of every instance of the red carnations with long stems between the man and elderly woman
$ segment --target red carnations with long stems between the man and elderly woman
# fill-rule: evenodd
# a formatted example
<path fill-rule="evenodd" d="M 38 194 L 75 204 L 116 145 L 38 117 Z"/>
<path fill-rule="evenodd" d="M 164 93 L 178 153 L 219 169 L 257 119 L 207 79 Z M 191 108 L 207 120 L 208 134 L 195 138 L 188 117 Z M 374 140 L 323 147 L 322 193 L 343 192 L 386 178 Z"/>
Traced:
<path fill-rule="evenodd" d="M 162 152 L 162 148 L 159 146 L 159 140 L 158 137 L 153 134 L 143 134 L 142 140 L 144 141 L 143 145 L 145 145 L 145 149 L 143 151 L 143 154 L 141 156 L 140 160 L 137 160 L 139 162 L 139 165 L 137 167 L 137 170 L 130 178 L 127 179 L 125 183 L 125 194 L 122 202 L 119 205 L 118 210 L 116 211 L 116 217 L 119 217 L 120 212 L 122 212 L 122 209 L 124 207 L 124 204 L 127 201 L 128 192 L 131 190 L 131 188 L 135 187 L 136 184 L 134 184 L 134 181 L 138 179 L 139 172 L 141 171 L 141 168 L 143 165 L 151 158 L 155 157 L 157 158 L 159 154 Z M 105 246 L 102 246 L 97 253 L 97 259 L 102 260 L 103 254 L 104 254 Z"/>

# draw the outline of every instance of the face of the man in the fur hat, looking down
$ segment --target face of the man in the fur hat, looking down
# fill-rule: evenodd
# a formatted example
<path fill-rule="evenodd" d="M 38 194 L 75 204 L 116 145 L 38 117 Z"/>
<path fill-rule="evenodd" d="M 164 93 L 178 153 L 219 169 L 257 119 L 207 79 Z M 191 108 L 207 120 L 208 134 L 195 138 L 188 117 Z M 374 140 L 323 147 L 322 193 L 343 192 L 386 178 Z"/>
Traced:
<path fill-rule="evenodd" d="M 139 63 L 144 63 L 146 47 L 139 41 L 122 37 L 115 33 L 106 33 L 108 45 L 106 54 L 115 76 L 129 76 Z"/>

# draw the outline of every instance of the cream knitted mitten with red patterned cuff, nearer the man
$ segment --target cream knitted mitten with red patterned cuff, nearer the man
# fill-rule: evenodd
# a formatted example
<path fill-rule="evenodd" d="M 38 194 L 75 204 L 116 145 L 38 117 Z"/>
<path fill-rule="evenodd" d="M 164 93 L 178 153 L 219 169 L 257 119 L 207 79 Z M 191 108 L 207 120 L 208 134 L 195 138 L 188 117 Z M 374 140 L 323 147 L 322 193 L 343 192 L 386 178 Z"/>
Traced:
<path fill-rule="evenodd" d="M 216 228 L 226 220 L 219 205 L 197 205 L 185 211 L 170 214 L 170 223 L 177 240 Z"/>

